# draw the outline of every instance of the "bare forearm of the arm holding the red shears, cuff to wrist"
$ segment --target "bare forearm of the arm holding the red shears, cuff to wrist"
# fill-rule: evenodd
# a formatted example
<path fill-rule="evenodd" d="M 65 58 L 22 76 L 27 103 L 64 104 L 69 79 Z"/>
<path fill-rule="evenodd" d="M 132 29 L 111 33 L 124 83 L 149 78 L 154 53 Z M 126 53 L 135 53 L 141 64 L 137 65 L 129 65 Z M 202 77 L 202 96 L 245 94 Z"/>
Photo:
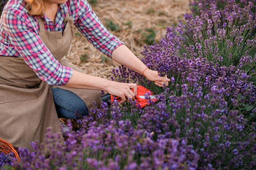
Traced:
<path fill-rule="evenodd" d="M 65 87 L 108 91 L 111 81 L 74 70 Z"/>

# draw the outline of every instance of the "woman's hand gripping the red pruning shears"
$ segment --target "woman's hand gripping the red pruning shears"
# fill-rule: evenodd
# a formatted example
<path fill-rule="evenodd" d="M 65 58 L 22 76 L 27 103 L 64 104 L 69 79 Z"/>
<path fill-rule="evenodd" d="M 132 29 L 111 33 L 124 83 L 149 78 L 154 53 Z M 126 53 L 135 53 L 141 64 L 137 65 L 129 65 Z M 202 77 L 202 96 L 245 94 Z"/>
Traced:
<path fill-rule="evenodd" d="M 133 91 L 131 89 L 133 89 Z M 135 99 L 135 96 L 137 95 L 137 84 L 112 81 L 106 92 L 120 97 L 122 99 L 120 103 L 123 103 L 127 99 Z"/>

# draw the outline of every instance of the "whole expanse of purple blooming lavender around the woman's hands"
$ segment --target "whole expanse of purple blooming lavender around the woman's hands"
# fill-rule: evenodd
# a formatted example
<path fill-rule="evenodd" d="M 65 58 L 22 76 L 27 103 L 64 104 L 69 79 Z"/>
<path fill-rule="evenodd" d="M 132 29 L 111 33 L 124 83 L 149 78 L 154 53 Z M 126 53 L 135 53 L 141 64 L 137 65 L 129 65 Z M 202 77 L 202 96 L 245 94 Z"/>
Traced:
<path fill-rule="evenodd" d="M 21 161 L 0 154 L 2 170 L 255 170 L 256 0 L 195 0 L 186 22 L 145 46 L 148 68 L 167 75 L 160 88 L 120 66 L 112 80 L 157 94 L 101 104 L 69 121 L 65 144 L 49 129 L 45 146 L 18 148 Z M 150 100 L 150 99 L 149 99 Z M 46 157 L 43 148 L 51 152 Z"/>

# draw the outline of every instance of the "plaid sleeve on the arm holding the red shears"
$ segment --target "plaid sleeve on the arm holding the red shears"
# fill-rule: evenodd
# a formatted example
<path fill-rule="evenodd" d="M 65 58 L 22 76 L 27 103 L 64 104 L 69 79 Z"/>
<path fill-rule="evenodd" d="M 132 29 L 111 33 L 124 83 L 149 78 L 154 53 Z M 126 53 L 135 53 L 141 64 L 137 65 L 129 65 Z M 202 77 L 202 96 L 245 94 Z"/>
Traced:
<path fill-rule="evenodd" d="M 14 46 L 36 75 L 50 85 L 67 84 L 73 69 L 62 66 L 54 58 L 38 33 L 28 26 L 29 20 L 14 9 L 6 9 L 3 15 L 2 25 L 9 36 L 10 45 Z"/>

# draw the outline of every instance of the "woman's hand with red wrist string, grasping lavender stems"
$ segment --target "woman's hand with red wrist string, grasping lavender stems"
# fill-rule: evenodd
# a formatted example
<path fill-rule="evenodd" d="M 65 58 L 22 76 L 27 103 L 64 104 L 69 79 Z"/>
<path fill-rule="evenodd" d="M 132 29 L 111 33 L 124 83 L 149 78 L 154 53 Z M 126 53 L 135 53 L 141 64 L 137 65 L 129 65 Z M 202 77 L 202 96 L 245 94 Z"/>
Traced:
<path fill-rule="evenodd" d="M 157 85 L 159 87 L 168 86 L 168 82 L 170 81 L 170 79 L 167 78 L 167 75 L 165 75 L 165 77 L 161 77 L 161 76 L 159 76 L 157 71 L 150 70 L 149 68 L 147 68 L 144 71 L 143 75 L 148 80 L 155 82 L 155 85 Z"/>

